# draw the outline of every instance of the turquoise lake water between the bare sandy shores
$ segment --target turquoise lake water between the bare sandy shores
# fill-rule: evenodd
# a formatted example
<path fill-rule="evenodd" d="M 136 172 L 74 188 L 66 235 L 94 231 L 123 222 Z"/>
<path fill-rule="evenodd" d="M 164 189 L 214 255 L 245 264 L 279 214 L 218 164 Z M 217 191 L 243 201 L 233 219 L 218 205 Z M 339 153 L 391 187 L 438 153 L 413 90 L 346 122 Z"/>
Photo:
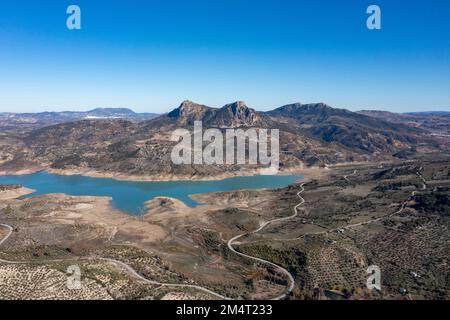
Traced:
<path fill-rule="evenodd" d="M 300 176 L 251 176 L 218 181 L 129 182 L 105 178 L 62 176 L 39 172 L 23 176 L 0 176 L 0 184 L 20 184 L 34 189 L 30 196 L 65 193 L 72 196 L 111 197 L 113 207 L 131 215 L 144 212 L 144 202 L 155 197 L 171 197 L 190 207 L 198 205 L 189 195 L 241 189 L 276 189 L 288 186 Z"/>

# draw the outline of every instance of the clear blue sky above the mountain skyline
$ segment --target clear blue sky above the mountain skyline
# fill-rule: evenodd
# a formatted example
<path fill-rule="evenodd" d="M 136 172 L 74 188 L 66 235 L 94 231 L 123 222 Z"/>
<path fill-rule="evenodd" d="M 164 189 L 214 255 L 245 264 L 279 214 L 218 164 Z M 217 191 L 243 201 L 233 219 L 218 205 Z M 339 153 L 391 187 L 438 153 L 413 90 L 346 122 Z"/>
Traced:
<path fill-rule="evenodd" d="M 366 28 L 370 4 L 380 31 Z M 1 1 L 0 111 L 165 112 L 184 99 L 450 111 L 450 1 Z"/>

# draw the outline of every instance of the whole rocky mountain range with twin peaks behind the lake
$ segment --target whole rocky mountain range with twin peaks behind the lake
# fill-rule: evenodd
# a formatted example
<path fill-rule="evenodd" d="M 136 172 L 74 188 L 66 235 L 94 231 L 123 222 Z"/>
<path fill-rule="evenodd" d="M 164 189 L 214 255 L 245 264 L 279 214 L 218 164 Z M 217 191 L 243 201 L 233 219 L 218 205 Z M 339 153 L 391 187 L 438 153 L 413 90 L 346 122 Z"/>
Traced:
<path fill-rule="evenodd" d="M 47 166 L 115 176 L 195 178 L 255 169 L 249 165 L 174 165 L 170 153 L 176 142 L 171 132 L 192 129 L 197 120 L 204 129 L 279 129 L 282 169 L 409 159 L 443 151 L 421 128 L 324 103 L 295 103 L 257 112 L 242 101 L 221 108 L 183 101 L 169 113 L 148 120 L 126 119 L 130 114 L 128 109 L 96 109 L 85 116 L 104 117 L 101 120 L 88 118 L 13 135 L 4 133 L 0 135 L 0 172 Z"/>

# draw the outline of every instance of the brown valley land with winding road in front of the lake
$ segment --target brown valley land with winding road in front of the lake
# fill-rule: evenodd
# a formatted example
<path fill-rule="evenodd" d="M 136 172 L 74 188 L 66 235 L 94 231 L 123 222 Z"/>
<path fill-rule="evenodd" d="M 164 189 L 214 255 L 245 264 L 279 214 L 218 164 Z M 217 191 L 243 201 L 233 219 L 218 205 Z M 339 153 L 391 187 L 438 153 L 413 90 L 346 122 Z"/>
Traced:
<path fill-rule="evenodd" d="M 0 222 L 13 232 L 1 244 L 0 259 L 24 263 L 0 266 L 15 274 L 59 272 L 45 277 L 58 283 L 64 266 L 79 264 L 84 294 L 93 299 L 105 292 L 112 299 L 218 298 L 195 286 L 233 299 L 286 292 L 288 299 L 324 299 L 327 290 L 349 299 L 448 299 L 449 169 L 448 162 L 413 161 L 336 166 L 306 176 L 303 187 L 195 196 L 204 204 L 197 208 L 155 199 L 152 213 L 141 218 L 115 212 L 101 198 L 2 198 Z M 436 205 L 423 205 L 430 201 Z M 8 230 L 0 229 L 4 237 Z M 277 267 L 240 253 L 285 268 L 292 291 Z M 382 270 L 381 292 L 365 288 L 373 263 Z M 13 296 L 20 277 L 7 279 L 0 294 Z M 46 291 L 36 279 L 43 292 L 52 287 Z"/>

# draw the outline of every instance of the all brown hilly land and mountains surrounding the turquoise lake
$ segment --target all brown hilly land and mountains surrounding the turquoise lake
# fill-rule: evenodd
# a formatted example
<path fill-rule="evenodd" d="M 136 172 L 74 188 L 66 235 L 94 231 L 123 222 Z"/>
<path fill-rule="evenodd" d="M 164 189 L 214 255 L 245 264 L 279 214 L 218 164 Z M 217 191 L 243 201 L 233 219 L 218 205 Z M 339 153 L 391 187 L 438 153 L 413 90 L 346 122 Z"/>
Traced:
<path fill-rule="evenodd" d="M 195 207 L 149 194 L 146 211 L 131 216 L 98 194 L 29 196 L 39 185 L 11 178 L 0 186 L 0 297 L 449 299 L 449 142 L 425 125 L 320 103 L 257 112 L 184 101 L 150 120 L 8 127 L 0 173 L 220 184 L 258 172 L 173 164 L 171 131 L 198 120 L 221 131 L 280 130 L 280 172 L 303 179 L 206 188 L 190 196 Z M 73 265 L 80 290 L 65 285 Z M 366 287 L 370 265 L 381 269 L 380 291 Z"/>

